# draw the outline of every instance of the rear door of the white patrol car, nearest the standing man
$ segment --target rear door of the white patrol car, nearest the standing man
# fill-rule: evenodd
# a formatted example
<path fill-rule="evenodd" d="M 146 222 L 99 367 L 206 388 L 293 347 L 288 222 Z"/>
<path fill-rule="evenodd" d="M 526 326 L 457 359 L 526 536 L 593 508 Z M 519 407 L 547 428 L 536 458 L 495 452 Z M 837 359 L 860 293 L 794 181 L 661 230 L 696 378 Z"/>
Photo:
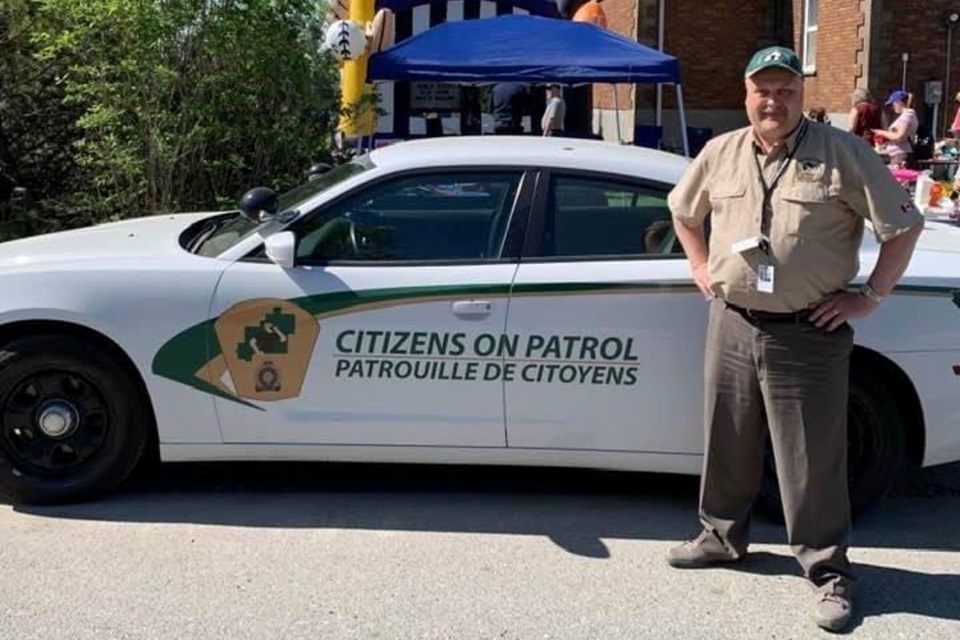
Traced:
<path fill-rule="evenodd" d="M 514 280 L 511 448 L 699 454 L 706 312 L 669 185 L 548 172 Z"/>

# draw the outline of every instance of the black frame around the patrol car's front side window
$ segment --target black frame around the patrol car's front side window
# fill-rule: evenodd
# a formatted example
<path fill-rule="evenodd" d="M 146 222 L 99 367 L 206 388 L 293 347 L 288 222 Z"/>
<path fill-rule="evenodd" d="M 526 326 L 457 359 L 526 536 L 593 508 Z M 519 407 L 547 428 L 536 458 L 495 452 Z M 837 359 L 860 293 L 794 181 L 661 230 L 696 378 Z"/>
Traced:
<path fill-rule="evenodd" d="M 324 267 L 324 266 L 356 266 L 366 268 L 376 267 L 409 267 L 409 266 L 445 266 L 445 265 L 471 265 L 471 264 L 503 264 L 517 262 L 520 258 L 520 250 L 523 243 L 523 234 L 530 216 L 533 193 L 536 189 L 536 170 L 528 166 L 518 165 L 458 165 L 443 167 L 419 167 L 416 169 L 407 169 L 395 171 L 389 174 L 367 180 L 357 185 L 345 193 L 322 203 L 310 210 L 307 214 L 301 216 L 284 231 L 293 232 L 296 237 L 296 246 L 299 247 L 303 228 L 323 215 L 331 207 L 342 205 L 345 201 L 362 196 L 364 191 L 379 189 L 384 184 L 390 182 L 399 182 L 416 178 L 417 176 L 436 176 L 443 174 L 463 174 L 463 173 L 517 173 L 520 176 L 517 185 L 517 192 L 514 196 L 510 210 L 506 213 L 507 221 L 504 227 L 504 234 L 500 243 L 500 253 L 496 257 L 487 258 L 463 258 L 463 259 L 436 259 L 436 260 L 352 260 L 352 259 L 318 259 L 297 257 L 294 261 L 294 268 L 297 267 Z M 264 247 L 261 245 L 248 258 L 250 261 L 270 262 L 264 253 Z"/>

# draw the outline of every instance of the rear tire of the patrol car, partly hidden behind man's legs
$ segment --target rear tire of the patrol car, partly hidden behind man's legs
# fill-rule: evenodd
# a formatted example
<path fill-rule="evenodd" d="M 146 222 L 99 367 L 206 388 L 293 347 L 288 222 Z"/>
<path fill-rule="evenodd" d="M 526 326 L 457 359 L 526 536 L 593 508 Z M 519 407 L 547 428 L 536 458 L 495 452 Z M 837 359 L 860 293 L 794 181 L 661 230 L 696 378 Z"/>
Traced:
<path fill-rule="evenodd" d="M 847 404 L 847 480 L 853 515 L 866 511 L 896 484 L 906 467 L 906 431 L 894 392 L 864 363 L 850 368 Z M 757 509 L 783 521 L 773 450 L 767 444 Z"/>

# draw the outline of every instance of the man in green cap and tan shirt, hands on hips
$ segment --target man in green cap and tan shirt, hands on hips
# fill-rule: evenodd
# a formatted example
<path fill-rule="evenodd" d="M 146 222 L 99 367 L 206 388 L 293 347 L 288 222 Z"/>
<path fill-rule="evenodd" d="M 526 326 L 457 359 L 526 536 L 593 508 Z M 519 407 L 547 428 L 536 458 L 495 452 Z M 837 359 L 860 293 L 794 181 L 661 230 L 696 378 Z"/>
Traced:
<path fill-rule="evenodd" d="M 703 531 L 670 550 L 674 567 L 744 557 L 769 432 L 787 536 L 817 590 L 815 619 L 845 628 L 848 320 L 900 279 L 923 227 L 873 150 L 803 115 L 796 54 L 769 47 L 745 73 L 750 125 L 707 143 L 671 192 L 674 227 L 710 302 L 705 374 Z M 704 222 L 711 216 L 709 248 Z M 882 243 L 859 291 L 864 221 Z"/>

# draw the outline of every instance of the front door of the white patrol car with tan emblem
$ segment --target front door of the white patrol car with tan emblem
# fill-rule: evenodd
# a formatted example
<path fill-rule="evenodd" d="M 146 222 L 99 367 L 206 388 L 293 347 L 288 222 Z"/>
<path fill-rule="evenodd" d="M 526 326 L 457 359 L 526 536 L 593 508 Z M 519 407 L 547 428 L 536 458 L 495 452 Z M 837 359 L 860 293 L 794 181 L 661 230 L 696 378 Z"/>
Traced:
<path fill-rule="evenodd" d="M 232 396 L 217 399 L 224 440 L 503 447 L 490 347 L 524 185 L 520 169 L 394 175 L 291 227 L 293 268 L 255 256 L 228 269 L 207 375 Z"/>

